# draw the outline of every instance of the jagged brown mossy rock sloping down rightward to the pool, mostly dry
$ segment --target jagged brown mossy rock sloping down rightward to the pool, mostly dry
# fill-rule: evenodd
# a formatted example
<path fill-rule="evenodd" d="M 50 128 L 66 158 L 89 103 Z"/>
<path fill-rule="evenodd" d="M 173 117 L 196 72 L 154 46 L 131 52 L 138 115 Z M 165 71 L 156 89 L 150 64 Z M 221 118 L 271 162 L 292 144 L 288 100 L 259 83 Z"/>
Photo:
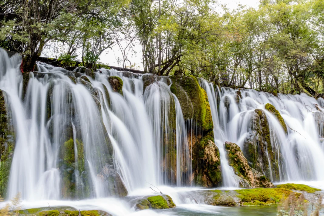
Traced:
<path fill-rule="evenodd" d="M 240 147 L 232 142 L 225 142 L 228 163 L 234 168 L 235 174 L 240 179 L 240 185 L 244 188 L 273 188 L 273 184 L 263 174 L 249 167 Z"/>

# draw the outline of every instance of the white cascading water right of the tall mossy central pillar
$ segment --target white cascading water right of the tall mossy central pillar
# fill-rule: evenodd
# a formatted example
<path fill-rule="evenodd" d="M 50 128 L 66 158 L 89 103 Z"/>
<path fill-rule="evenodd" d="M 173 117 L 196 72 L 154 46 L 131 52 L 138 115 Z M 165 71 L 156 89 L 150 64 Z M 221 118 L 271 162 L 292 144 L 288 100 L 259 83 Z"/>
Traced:
<path fill-rule="evenodd" d="M 206 89 L 208 98 L 211 98 L 213 91 L 209 91 L 206 86 L 212 89 L 212 84 L 209 85 L 209 82 L 202 80 L 202 85 Z M 316 100 L 306 94 L 294 96 L 278 94 L 278 97 L 274 97 L 269 93 L 251 89 L 240 89 L 242 98 L 238 99 L 237 92 L 238 90 L 231 88 L 219 89 L 217 86 L 216 94 L 219 99 L 212 96 L 219 104 L 220 126 L 218 131 L 214 128 L 214 133 L 217 134 L 215 140 L 218 139 L 216 137 L 222 137 L 221 143 L 224 141 L 237 143 L 244 152 L 244 144 L 255 127 L 252 120 L 255 115 L 254 110 L 261 109 L 269 123 L 271 150 L 277 162 L 274 165 L 270 162 L 269 151 L 266 149 L 270 171 L 264 169 L 263 173 L 268 172 L 272 181 L 323 181 L 321 167 L 324 165 L 324 152 L 320 141 L 323 130 L 323 112 L 316 108 L 318 105 L 323 105 L 323 99 Z M 278 119 L 265 109 L 267 103 L 272 104 L 282 115 L 287 125 L 287 134 Z M 210 104 L 212 110 L 214 106 L 217 106 L 217 104 Z M 214 127 L 218 127 L 215 123 L 218 119 L 214 116 Z M 222 145 L 217 146 L 220 146 L 221 152 Z M 274 169 L 272 166 L 277 166 L 279 170 L 279 176 L 276 179 L 271 171 Z"/>

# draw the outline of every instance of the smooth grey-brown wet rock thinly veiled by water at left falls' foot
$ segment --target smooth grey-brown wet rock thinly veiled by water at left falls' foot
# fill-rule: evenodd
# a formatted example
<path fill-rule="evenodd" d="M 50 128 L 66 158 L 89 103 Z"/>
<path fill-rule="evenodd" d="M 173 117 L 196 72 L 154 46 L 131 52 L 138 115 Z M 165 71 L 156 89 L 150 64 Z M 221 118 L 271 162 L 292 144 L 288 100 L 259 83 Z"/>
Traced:
<path fill-rule="evenodd" d="M 106 164 L 97 177 L 104 182 L 110 195 L 117 197 L 125 197 L 128 195 L 121 176 L 113 168 L 113 165 Z"/>

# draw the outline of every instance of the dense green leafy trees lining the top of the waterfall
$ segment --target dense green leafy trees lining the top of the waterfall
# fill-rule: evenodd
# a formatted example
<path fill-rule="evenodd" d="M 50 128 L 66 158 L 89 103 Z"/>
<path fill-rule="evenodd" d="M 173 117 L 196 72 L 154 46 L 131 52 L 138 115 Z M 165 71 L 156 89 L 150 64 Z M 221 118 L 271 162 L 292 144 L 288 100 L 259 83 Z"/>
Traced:
<path fill-rule="evenodd" d="M 175 71 L 216 84 L 276 93 L 324 93 L 324 0 L 261 0 L 229 10 L 213 0 L 0 0 L 0 46 L 34 70 L 47 46 L 63 67 L 98 68 L 134 42 L 147 73 Z M 125 45 L 126 44 L 126 45 Z M 78 55 L 77 52 L 81 53 Z"/>

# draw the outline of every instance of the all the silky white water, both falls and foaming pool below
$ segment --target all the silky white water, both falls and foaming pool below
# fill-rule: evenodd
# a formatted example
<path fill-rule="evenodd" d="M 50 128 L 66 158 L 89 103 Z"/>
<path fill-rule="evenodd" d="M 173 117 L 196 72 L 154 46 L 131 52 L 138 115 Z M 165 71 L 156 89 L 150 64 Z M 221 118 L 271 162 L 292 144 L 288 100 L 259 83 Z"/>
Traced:
<path fill-rule="evenodd" d="M 170 91 L 169 77 L 100 69 L 95 79 L 87 75 L 91 84 L 86 86 L 78 71 L 39 63 L 37 72 L 30 72 L 24 92 L 20 63 L 19 55 L 9 57 L 0 49 L 0 89 L 5 92 L 8 121 L 15 132 L 6 199 L 20 192 L 24 208 L 47 207 L 48 202 L 51 206 L 105 210 L 113 215 L 241 214 L 240 210 L 235 213 L 233 209 L 206 205 L 199 193 L 205 188 L 194 187 L 192 136 L 187 134 L 196 129 L 192 119 L 184 119 L 179 100 Z M 75 74 L 79 76 L 71 79 Z M 110 76 L 121 78 L 122 94 L 113 90 L 107 79 Z M 147 77 L 154 82 L 144 91 Z M 253 130 L 251 115 L 255 109 L 264 110 L 268 119 L 272 151 L 279 161 L 279 181 L 323 185 L 324 118 L 317 109 L 324 107 L 322 98 L 316 100 L 306 94 L 274 97 L 241 89 L 242 98 L 236 103 L 237 89 L 220 88 L 202 78 L 199 83 L 210 104 L 222 187 L 239 187 L 224 143 L 234 142 L 244 149 Z M 287 133 L 265 109 L 267 103 L 280 112 Z M 72 137 L 77 161 L 72 174 L 77 188 L 74 200 L 62 195 L 68 184 L 65 177 L 71 175 L 61 169 L 61 146 L 67 143 L 67 137 Z M 175 157 L 167 153 L 172 147 L 176 147 Z M 172 158 L 164 160 L 168 157 Z M 115 198 L 98 178 L 102 167 L 110 162 L 129 193 L 124 198 Z M 275 181 L 269 164 L 270 178 Z M 170 195 L 177 210 L 135 212 L 132 199 L 155 194 L 152 185 Z M 275 215 L 273 209 L 269 215 Z"/>

